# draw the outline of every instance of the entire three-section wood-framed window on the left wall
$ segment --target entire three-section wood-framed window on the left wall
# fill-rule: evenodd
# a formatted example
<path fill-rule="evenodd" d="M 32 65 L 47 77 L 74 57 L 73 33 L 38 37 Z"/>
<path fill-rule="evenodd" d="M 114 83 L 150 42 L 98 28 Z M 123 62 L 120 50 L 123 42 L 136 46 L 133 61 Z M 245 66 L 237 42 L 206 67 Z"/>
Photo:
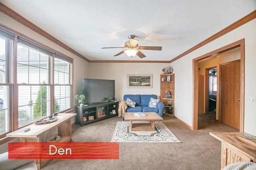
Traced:
<path fill-rule="evenodd" d="M 71 68 L 69 57 L 0 29 L 0 138 L 72 109 Z"/>

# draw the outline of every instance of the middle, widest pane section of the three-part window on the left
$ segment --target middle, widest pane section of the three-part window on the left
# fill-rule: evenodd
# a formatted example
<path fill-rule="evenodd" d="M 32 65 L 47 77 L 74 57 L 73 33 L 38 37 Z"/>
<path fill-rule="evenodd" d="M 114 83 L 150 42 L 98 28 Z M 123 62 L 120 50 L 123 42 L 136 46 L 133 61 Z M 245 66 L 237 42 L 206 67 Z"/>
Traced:
<path fill-rule="evenodd" d="M 26 45 L 25 45 L 26 44 Z M 18 127 L 50 115 L 50 57 L 20 40 L 17 45 Z"/>

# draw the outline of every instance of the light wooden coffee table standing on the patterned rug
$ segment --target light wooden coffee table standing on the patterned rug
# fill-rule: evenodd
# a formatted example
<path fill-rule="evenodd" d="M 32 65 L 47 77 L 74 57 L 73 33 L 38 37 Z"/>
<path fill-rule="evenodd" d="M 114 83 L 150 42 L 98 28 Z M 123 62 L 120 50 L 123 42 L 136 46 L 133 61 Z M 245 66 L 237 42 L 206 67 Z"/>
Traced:
<path fill-rule="evenodd" d="M 134 115 L 136 112 L 125 112 L 124 120 L 130 121 L 131 131 L 154 131 L 155 121 L 163 120 L 156 112 L 142 112 L 146 116 Z M 132 123 L 132 121 L 150 121 L 150 123 Z"/>

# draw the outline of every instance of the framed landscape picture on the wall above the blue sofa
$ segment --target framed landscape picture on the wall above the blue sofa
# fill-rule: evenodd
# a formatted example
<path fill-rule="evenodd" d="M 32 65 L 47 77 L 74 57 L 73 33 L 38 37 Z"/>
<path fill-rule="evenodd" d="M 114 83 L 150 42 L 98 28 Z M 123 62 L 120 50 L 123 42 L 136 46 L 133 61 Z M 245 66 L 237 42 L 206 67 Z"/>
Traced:
<path fill-rule="evenodd" d="M 127 74 L 127 88 L 153 88 L 152 74 Z"/>

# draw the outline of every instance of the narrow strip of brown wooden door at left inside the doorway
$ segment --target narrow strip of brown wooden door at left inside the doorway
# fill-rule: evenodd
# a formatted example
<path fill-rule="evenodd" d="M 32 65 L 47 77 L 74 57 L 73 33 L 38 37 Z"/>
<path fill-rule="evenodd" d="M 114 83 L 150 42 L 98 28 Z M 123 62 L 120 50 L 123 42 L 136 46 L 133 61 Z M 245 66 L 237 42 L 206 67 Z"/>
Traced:
<path fill-rule="evenodd" d="M 204 76 L 198 75 L 198 115 L 204 114 Z"/>

